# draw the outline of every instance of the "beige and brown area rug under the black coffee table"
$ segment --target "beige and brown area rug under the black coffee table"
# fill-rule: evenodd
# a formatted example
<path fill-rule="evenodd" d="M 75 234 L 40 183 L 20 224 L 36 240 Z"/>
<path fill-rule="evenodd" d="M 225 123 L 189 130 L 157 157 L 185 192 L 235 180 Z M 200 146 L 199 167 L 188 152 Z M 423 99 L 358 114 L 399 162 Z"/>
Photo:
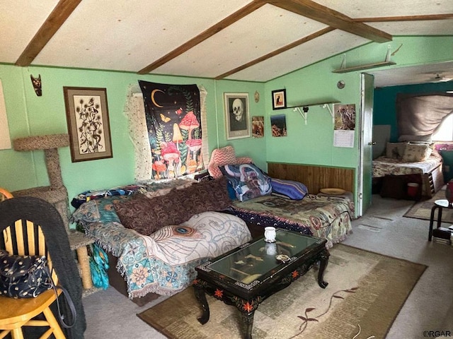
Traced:
<path fill-rule="evenodd" d="M 265 299 L 255 311 L 253 339 L 385 338 L 426 266 L 336 244 L 317 284 L 317 269 Z M 236 307 L 207 296 L 210 320 L 201 325 L 193 288 L 137 314 L 170 339 L 240 339 Z M 357 335 L 358 334 L 358 335 Z"/>

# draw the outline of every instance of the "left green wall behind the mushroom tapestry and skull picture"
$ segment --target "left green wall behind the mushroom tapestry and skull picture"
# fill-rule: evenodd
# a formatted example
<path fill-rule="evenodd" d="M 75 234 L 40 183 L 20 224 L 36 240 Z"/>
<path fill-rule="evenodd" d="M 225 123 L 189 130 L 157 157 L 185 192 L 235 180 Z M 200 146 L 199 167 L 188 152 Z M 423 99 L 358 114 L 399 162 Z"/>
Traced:
<path fill-rule="evenodd" d="M 41 75 L 42 97 L 35 95 L 30 74 L 35 77 Z M 203 85 L 207 90 L 210 151 L 227 144 L 234 145 L 236 153 L 253 157 L 258 166 L 266 168 L 264 138 L 226 141 L 222 99 L 223 91 L 249 93 L 251 115 L 263 114 L 263 101 L 256 103 L 253 100 L 256 90 L 263 92 L 263 83 L 11 65 L 0 65 L 0 79 L 11 139 L 67 133 L 64 86 L 107 88 L 113 158 L 71 162 L 69 147 L 60 148 L 62 177 L 69 200 L 89 189 L 107 189 L 134 182 L 134 148 L 129 138 L 124 107 L 127 89 L 130 84 L 137 84 L 137 80 Z M 0 187 L 9 191 L 48 186 L 44 152 L 0 150 L 0 178 Z"/>

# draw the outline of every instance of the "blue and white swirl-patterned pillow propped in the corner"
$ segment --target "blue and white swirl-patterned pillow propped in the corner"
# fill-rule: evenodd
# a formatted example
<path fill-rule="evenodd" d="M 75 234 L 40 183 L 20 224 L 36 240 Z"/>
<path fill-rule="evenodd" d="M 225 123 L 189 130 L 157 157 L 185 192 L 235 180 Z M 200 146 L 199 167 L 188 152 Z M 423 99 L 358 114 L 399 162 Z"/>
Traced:
<path fill-rule="evenodd" d="M 253 164 L 225 165 L 219 167 L 228 178 L 239 201 L 246 201 L 272 193 L 270 178 Z"/>

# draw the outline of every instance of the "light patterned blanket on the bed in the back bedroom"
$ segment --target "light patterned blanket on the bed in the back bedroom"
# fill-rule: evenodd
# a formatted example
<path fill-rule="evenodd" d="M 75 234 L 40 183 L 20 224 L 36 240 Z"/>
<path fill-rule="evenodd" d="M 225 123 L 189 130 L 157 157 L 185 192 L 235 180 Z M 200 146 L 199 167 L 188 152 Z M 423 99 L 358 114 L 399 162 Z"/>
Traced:
<path fill-rule="evenodd" d="M 373 178 L 386 175 L 424 174 L 431 172 L 442 162 L 440 155 L 432 153 L 428 160 L 417 162 L 401 162 L 390 157 L 377 157 L 373 160 Z"/>

